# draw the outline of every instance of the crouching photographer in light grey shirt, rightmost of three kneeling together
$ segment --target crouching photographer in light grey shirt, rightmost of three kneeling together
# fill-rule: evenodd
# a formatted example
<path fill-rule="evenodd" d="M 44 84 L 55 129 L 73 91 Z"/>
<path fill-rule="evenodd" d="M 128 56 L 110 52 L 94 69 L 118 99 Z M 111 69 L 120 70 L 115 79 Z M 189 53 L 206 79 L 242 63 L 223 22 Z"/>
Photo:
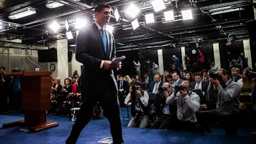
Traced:
<path fill-rule="evenodd" d="M 166 97 L 166 104 L 173 102 L 177 104 L 177 120 L 172 122 L 173 129 L 197 131 L 195 122 L 196 112 L 200 109 L 200 97 L 191 92 L 189 81 L 183 81 L 180 86 L 175 86 L 172 95 Z"/>

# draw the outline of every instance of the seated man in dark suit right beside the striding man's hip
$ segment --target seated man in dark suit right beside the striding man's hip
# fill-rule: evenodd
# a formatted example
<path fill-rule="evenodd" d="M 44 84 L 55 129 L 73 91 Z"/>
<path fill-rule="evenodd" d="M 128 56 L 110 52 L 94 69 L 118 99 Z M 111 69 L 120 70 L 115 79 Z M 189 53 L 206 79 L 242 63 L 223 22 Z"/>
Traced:
<path fill-rule="evenodd" d="M 129 83 L 124 81 L 123 75 L 119 75 L 119 81 L 117 82 L 118 88 L 118 100 L 120 102 L 120 107 L 124 107 L 125 96 L 129 93 Z"/>

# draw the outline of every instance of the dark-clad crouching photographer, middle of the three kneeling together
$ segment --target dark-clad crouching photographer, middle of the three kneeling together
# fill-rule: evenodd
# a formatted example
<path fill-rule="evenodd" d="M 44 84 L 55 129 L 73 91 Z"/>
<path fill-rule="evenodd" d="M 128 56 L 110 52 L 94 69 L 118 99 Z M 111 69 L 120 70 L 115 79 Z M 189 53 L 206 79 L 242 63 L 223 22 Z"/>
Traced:
<path fill-rule="evenodd" d="M 163 86 L 159 88 L 154 100 L 154 106 L 157 119 L 154 121 L 150 128 L 152 129 L 171 129 L 173 118 L 177 120 L 177 105 L 173 103 L 171 105 L 166 104 L 166 97 L 171 92 L 170 84 L 163 83 Z"/>

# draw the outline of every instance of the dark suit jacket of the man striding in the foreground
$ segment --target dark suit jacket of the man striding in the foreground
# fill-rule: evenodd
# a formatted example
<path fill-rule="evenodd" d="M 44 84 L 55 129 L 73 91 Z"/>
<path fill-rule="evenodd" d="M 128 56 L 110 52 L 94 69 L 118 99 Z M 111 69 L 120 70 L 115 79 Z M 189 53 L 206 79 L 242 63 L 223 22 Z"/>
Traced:
<path fill-rule="evenodd" d="M 115 60 L 115 39 L 106 31 L 107 53 L 100 31 L 95 23 L 81 29 L 76 39 L 76 60 L 83 63 L 81 74 L 81 92 L 100 93 L 106 84 L 113 84 L 118 90 L 113 70 L 100 68 L 102 60 Z"/>

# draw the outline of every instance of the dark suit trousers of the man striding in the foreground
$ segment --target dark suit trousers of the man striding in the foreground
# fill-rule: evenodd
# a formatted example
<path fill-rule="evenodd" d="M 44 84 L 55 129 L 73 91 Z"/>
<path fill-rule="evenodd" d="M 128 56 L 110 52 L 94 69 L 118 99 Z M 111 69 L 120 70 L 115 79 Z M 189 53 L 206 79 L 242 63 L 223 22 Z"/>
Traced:
<path fill-rule="evenodd" d="M 110 83 L 110 82 L 109 82 Z M 100 92 L 81 92 L 83 97 L 81 108 L 77 114 L 76 122 L 72 127 L 66 143 L 76 143 L 80 132 L 92 119 L 93 108 L 99 101 L 102 104 L 104 115 L 109 120 L 113 144 L 120 144 L 122 139 L 122 124 L 120 118 L 120 106 L 117 91 L 114 84 L 105 84 Z M 96 141 L 96 140 L 95 140 Z"/>

